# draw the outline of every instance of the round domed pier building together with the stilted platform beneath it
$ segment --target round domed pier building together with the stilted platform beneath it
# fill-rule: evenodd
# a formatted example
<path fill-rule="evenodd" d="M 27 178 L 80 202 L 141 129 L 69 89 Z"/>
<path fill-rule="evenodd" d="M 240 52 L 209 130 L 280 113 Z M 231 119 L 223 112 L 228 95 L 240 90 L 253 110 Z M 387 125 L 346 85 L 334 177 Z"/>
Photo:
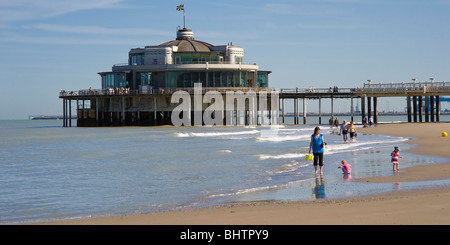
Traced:
<path fill-rule="evenodd" d="M 72 102 L 76 102 L 77 126 L 170 125 L 177 106 L 171 102 L 172 95 L 185 91 L 194 96 L 195 85 L 201 85 L 202 95 L 208 91 L 223 94 L 223 103 L 227 92 L 255 93 L 257 101 L 244 102 L 247 116 L 253 104 L 261 105 L 259 95 L 268 95 L 267 106 L 257 110 L 259 115 L 264 111 L 270 114 L 271 108 L 278 111 L 271 106 L 270 73 L 259 70 L 255 63 L 245 63 L 240 46 L 212 45 L 196 40 L 192 30 L 179 28 L 174 40 L 133 48 L 127 63 L 99 72 L 101 89 L 61 91 L 63 126 L 72 126 Z M 205 103 L 200 110 L 210 105 Z M 238 121 L 239 115 L 231 116 Z"/>

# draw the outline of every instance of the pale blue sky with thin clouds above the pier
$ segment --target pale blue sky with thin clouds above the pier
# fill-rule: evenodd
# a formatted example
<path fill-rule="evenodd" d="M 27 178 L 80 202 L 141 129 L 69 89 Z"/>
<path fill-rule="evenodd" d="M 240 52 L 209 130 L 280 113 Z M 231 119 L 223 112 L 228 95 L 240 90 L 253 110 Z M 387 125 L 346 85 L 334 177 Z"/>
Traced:
<path fill-rule="evenodd" d="M 0 0 L 0 120 L 62 115 L 60 90 L 174 40 L 179 4 L 196 40 L 244 48 L 271 88 L 450 81 L 450 0 Z"/>

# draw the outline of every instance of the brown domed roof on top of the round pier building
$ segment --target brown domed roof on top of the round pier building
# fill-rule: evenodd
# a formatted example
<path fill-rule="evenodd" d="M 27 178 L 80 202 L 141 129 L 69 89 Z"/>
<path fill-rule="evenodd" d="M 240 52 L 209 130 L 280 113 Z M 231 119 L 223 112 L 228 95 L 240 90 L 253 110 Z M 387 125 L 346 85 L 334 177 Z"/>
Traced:
<path fill-rule="evenodd" d="M 194 40 L 192 30 L 183 28 L 177 32 L 177 39 L 160 44 L 159 46 L 177 46 L 177 52 L 211 52 L 213 46 L 207 42 Z"/>

